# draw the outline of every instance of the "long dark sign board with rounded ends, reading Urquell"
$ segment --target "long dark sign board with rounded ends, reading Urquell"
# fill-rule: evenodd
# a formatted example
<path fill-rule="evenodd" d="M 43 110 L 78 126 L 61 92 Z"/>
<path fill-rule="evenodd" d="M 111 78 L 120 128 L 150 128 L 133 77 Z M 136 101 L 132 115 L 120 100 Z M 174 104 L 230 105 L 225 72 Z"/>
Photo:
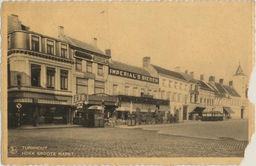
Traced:
<path fill-rule="evenodd" d="M 104 64 L 104 65 L 108 65 L 108 62 L 109 62 L 109 60 L 106 59 L 106 58 L 91 55 L 91 54 L 81 52 L 81 51 L 78 51 L 78 50 L 75 50 L 74 57 L 81 58 L 81 59 L 84 59 L 84 60 L 94 61 L 95 63 L 100 63 L 100 64 Z"/>

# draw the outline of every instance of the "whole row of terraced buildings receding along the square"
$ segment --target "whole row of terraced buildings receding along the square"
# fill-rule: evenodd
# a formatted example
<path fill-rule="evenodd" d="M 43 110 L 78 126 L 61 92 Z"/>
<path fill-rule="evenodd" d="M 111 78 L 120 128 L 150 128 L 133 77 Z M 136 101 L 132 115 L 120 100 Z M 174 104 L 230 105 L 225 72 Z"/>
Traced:
<path fill-rule="evenodd" d="M 137 67 L 112 60 L 111 50 L 64 34 L 58 38 L 29 30 L 17 15 L 8 16 L 8 122 L 19 111 L 20 125 L 74 124 L 79 110 L 105 103 L 105 118 L 127 118 L 115 112 L 125 106 L 133 111 L 163 116 L 178 112 L 183 120 L 191 113 L 221 112 L 231 118 L 248 118 L 248 82 L 240 64 L 228 85 L 204 75 L 165 69 L 143 58 Z M 22 107 L 18 109 L 16 104 Z"/>

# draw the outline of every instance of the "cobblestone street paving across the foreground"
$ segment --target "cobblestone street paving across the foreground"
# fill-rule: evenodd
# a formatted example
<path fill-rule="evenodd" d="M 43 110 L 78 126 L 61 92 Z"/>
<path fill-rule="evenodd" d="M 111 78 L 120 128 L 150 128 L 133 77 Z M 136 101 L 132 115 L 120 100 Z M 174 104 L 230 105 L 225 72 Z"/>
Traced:
<path fill-rule="evenodd" d="M 247 144 L 248 140 L 173 136 L 141 128 L 8 130 L 9 157 L 49 157 L 49 153 L 37 155 L 37 152 L 56 152 L 50 157 L 243 157 Z M 18 148 L 16 154 L 10 153 L 11 146 Z M 47 149 L 23 150 L 22 146 L 47 146 Z"/>

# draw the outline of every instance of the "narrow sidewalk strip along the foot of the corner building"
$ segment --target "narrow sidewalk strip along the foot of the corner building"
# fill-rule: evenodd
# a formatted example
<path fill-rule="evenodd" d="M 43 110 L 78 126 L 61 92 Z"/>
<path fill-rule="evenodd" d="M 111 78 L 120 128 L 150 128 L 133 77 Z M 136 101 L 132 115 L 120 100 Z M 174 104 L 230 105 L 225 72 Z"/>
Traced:
<path fill-rule="evenodd" d="M 37 127 L 33 127 L 32 125 L 24 125 L 22 127 L 18 127 L 18 128 L 11 128 L 11 129 L 18 129 L 18 130 L 26 130 L 26 129 L 54 129 L 54 128 L 72 128 L 72 127 L 82 127 L 82 125 L 67 125 L 67 124 L 53 124 L 53 125 L 38 125 Z"/>

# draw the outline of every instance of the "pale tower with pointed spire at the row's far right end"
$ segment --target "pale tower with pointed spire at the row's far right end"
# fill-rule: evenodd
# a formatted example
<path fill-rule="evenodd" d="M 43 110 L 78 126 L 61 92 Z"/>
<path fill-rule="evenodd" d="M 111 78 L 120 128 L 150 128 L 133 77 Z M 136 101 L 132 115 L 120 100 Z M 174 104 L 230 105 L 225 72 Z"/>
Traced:
<path fill-rule="evenodd" d="M 233 87 L 242 98 L 245 98 L 246 88 L 248 88 L 248 81 L 247 76 L 242 71 L 240 63 L 236 73 L 233 75 Z"/>

